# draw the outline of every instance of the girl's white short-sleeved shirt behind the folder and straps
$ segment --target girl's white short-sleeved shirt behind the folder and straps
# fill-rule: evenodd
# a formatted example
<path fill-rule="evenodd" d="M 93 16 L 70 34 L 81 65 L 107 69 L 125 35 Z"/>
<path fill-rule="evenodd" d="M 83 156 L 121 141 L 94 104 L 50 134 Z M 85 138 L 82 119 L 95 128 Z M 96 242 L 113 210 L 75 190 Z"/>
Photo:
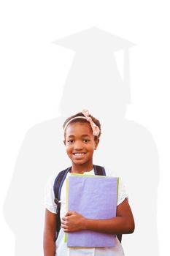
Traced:
<path fill-rule="evenodd" d="M 88 175 L 94 175 L 94 171 L 84 173 Z M 70 175 L 67 174 L 66 178 Z M 53 184 L 55 181 L 57 174 L 53 175 L 47 183 L 47 187 L 45 189 L 45 208 L 48 211 L 56 214 L 56 204 L 54 203 L 54 192 L 53 192 Z M 125 192 L 125 187 L 120 179 L 119 188 L 118 188 L 118 198 L 117 198 L 117 206 L 125 200 L 127 194 Z M 66 214 L 66 179 L 63 182 L 63 186 L 61 188 L 61 218 Z M 120 244 L 120 241 L 116 238 L 114 247 L 102 247 L 102 248 L 85 248 L 85 249 L 72 249 L 67 247 L 66 242 L 64 241 L 65 233 L 61 228 L 60 233 L 58 234 L 57 241 L 55 242 L 55 255 L 57 256 L 123 256 L 123 247 Z"/>

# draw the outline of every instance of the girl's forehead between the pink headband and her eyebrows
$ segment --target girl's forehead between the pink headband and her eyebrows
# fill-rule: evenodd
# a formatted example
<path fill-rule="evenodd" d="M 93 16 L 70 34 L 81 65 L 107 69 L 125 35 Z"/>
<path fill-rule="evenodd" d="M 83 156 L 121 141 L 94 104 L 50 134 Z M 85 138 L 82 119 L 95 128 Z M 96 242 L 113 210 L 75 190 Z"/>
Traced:
<path fill-rule="evenodd" d="M 74 122 L 66 127 L 66 136 L 82 136 L 93 135 L 92 129 L 89 123 Z"/>

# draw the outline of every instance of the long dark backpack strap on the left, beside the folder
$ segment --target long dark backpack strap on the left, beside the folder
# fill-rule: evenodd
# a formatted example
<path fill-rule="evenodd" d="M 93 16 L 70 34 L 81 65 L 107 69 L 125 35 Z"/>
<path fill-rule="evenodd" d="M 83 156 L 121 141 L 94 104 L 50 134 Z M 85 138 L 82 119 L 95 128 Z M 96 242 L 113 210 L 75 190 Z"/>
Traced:
<path fill-rule="evenodd" d="M 58 176 L 55 178 L 54 185 L 53 185 L 53 191 L 54 191 L 54 195 L 55 195 L 54 201 L 55 201 L 55 203 L 57 205 L 56 214 L 58 215 L 58 217 L 57 217 L 57 236 L 58 236 L 58 233 L 59 233 L 59 231 L 61 229 L 61 219 L 60 219 L 61 187 L 62 187 L 63 181 L 65 180 L 66 175 L 67 175 L 67 173 L 69 173 L 70 169 L 71 169 L 71 167 L 66 168 L 66 170 L 62 170 L 60 173 L 58 173 Z"/>

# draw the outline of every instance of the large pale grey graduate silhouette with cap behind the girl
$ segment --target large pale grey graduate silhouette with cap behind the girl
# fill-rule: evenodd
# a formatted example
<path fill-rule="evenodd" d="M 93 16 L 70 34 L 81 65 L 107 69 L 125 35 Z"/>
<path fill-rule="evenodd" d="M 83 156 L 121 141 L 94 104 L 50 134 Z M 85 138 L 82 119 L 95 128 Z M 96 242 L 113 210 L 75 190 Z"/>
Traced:
<path fill-rule="evenodd" d="M 15 233 L 15 255 L 42 255 L 44 187 L 55 171 L 70 165 L 62 124 L 71 114 L 88 108 L 102 126 L 94 163 L 123 177 L 134 213 L 136 230 L 123 235 L 125 255 L 158 256 L 158 149 L 142 124 L 125 118 L 130 103 L 128 49 L 133 44 L 97 28 L 55 43 L 75 54 L 63 89 L 61 116 L 29 129 L 18 153 L 4 203 L 4 217 Z M 123 78 L 117 50 L 124 53 Z"/>

